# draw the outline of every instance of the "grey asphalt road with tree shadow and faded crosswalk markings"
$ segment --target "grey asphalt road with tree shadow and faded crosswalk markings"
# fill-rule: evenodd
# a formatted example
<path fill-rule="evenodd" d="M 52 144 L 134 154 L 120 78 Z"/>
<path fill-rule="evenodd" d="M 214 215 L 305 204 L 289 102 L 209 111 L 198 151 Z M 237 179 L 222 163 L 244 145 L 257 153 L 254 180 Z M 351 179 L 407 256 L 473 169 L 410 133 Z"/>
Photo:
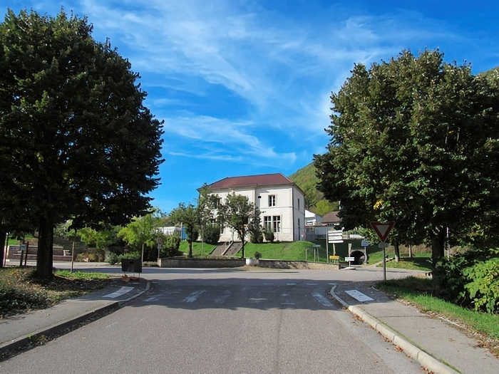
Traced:
<path fill-rule="evenodd" d="M 4 361 L 0 373 L 422 373 L 326 297 L 332 284 L 380 279 L 379 270 L 143 276 L 152 287 L 134 303 Z"/>

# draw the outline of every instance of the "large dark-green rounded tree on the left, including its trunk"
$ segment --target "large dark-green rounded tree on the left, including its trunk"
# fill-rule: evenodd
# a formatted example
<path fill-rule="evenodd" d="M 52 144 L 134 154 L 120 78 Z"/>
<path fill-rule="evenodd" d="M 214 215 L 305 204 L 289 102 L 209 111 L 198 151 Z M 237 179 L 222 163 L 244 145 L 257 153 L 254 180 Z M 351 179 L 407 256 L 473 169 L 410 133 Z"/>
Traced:
<path fill-rule="evenodd" d="M 94 41 L 86 18 L 10 9 L 0 24 L 0 194 L 38 225 L 38 276 L 51 278 L 55 224 L 124 224 L 150 208 L 161 123 L 138 73 Z M 4 209 L 0 209 L 4 213 Z"/>

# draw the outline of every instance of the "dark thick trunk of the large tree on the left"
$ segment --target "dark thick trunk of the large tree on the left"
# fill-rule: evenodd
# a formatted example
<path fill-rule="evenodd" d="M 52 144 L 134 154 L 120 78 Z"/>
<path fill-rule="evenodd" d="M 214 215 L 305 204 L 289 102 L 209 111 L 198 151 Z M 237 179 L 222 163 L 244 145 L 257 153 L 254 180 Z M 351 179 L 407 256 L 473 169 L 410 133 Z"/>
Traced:
<path fill-rule="evenodd" d="M 36 274 L 42 279 L 51 279 L 53 274 L 53 218 L 40 217 L 39 222 Z"/>

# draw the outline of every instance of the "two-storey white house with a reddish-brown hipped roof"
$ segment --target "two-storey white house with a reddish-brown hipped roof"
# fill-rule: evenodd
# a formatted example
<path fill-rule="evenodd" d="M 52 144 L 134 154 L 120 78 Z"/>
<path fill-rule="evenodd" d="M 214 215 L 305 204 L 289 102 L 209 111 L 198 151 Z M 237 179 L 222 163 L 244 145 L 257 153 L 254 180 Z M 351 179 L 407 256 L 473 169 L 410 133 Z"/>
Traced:
<path fill-rule="evenodd" d="M 260 209 L 264 227 L 274 231 L 275 240 L 305 239 L 305 197 L 292 180 L 281 173 L 227 177 L 209 185 L 222 200 L 227 194 L 241 194 Z M 237 233 L 223 229 L 220 241 L 238 241 Z"/>

